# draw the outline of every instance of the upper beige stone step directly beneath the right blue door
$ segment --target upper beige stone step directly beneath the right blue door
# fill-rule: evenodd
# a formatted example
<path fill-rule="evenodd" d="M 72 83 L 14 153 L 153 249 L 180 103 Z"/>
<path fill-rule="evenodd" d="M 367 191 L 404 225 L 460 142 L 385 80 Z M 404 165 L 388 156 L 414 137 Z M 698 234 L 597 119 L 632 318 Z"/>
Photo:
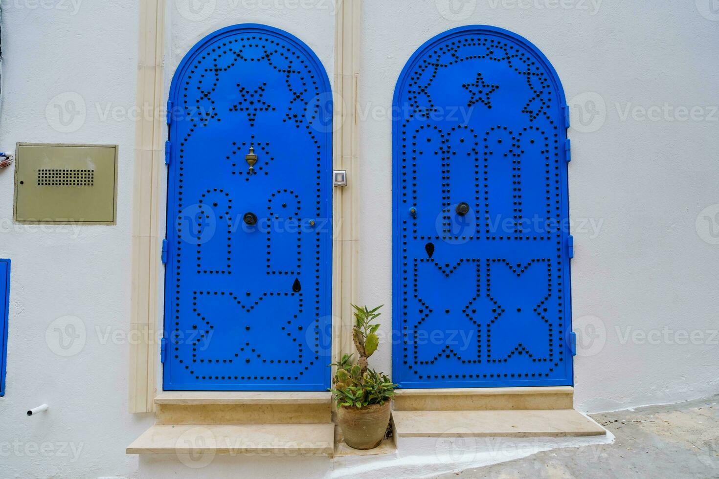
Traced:
<path fill-rule="evenodd" d="M 398 389 L 395 411 L 572 409 L 572 386 L 528 388 Z"/>

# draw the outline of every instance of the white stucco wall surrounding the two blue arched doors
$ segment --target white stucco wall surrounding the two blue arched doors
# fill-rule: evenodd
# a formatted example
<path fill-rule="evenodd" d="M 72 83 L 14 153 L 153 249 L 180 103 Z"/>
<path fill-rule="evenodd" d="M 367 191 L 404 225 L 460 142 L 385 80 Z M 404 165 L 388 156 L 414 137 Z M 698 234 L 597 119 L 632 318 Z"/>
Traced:
<path fill-rule="evenodd" d="M 0 399 L 3 477 L 132 475 L 137 457 L 124 455 L 124 447 L 152 424 L 152 417 L 126 412 L 134 147 L 127 116 L 135 100 L 136 3 L 2 1 L 0 150 L 35 141 L 119 144 L 120 152 L 118 223 L 111 227 L 12 224 L 12 169 L 0 170 L 0 257 L 13 261 L 7 389 Z M 289 0 L 216 0 L 196 14 L 188 14 L 187 0 L 168 3 L 167 85 L 198 39 L 241 22 L 296 34 L 332 78 L 329 0 L 303 3 L 312 8 Z M 719 19 L 702 0 L 698 6 L 565 0 L 546 8 L 551 5 L 477 0 L 448 9 L 446 0 L 364 0 L 360 298 L 388 305 L 382 317 L 388 334 L 388 111 L 398 74 L 434 34 L 493 24 L 534 42 L 573 101 L 577 407 L 620 409 L 713 394 L 719 390 Z M 84 118 L 59 122 L 55 105 L 83 111 L 82 103 Z M 672 108 L 666 116 L 665 103 Z M 642 118 L 642 108 L 651 119 Z M 68 315 L 79 320 L 58 320 Z M 80 337 L 70 343 L 70 333 Z M 390 371 L 389 345 L 372 360 Z M 43 402 L 50 411 L 24 416 Z"/>

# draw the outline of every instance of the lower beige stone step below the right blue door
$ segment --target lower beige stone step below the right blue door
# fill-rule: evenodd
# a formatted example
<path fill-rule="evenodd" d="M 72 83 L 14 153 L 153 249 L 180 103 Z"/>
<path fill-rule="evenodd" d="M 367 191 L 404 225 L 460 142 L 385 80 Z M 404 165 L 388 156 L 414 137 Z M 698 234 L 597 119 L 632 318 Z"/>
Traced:
<path fill-rule="evenodd" d="M 393 411 L 398 447 L 408 437 L 580 437 L 606 431 L 574 409 Z"/>

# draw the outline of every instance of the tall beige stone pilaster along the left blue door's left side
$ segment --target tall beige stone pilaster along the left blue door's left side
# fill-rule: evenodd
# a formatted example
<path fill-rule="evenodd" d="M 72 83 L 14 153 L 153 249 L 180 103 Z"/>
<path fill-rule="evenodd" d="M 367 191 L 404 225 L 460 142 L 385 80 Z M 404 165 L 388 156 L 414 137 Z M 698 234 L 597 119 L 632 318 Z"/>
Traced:
<path fill-rule="evenodd" d="M 139 108 L 160 111 L 166 105 L 163 88 L 165 0 L 139 2 L 139 47 L 137 55 L 137 98 Z M 164 107 L 162 107 L 164 108 Z M 144 111 L 144 110 L 143 110 Z M 135 128 L 134 190 L 132 193 L 132 283 L 130 334 L 142 338 L 130 342 L 129 411 L 154 410 L 157 357 L 162 330 L 158 294 L 164 271 L 160 248 L 164 223 L 158 208 L 165 194 L 165 138 L 161 115 L 142 116 Z M 159 326 L 159 328 L 158 328 Z"/>

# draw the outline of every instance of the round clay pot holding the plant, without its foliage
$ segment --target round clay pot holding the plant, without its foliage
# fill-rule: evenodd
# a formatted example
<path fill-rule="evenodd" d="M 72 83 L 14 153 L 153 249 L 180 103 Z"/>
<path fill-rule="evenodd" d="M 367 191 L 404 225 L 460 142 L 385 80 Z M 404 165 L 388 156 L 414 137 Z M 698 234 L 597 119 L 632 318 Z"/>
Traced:
<path fill-rule="evenodd" d="M 361 409 L 341 406 L 337 409 L 337 422 L 349 447 L 372 449 L 385 437 L 390 422 L 390 401 Z"/>

